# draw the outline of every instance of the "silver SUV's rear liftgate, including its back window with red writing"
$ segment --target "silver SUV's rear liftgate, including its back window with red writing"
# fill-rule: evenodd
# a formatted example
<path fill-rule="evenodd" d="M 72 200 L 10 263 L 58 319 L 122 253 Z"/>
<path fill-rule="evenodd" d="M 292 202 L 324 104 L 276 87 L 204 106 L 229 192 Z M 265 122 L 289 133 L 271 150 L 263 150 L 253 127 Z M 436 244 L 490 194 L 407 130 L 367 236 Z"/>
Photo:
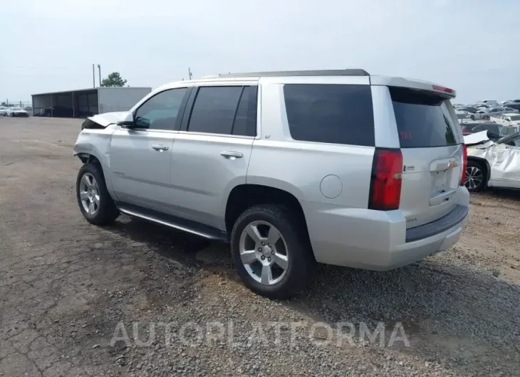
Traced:
<path fill-rule="evenodd" d="M 402 152 L 400 210 L 413 228 L 447 215 L 462 177 L 462 137 L 451 102 L 424 90 L 390 87 Z"/>

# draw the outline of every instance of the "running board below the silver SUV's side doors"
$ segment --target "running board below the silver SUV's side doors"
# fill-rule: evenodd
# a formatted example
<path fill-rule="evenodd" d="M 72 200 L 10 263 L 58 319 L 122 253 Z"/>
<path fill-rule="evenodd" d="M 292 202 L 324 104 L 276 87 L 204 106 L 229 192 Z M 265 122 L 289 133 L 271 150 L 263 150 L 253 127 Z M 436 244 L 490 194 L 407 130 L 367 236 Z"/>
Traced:
<path fill-rule="evenodd" d="M 177 218 L 175 216 L 166 215 L 165 213 L 151 211 L 146 208 L 132 206 L 126 203 L 118 202 L 116 203 L 116 206 L 118 207 L 119 211 L 126 213 L 127 215 L 142 218 L 143 220 L 151 221 L 152 223 L 182 230 L 183 232 L 192 233 L 209 240 L 219 240 L 223 242 L 227 242 L 228 240 L 226 232 L 223 232 L 217 228 L 213 228 L 209 225 L 185 220 L 184 218 Z"/>

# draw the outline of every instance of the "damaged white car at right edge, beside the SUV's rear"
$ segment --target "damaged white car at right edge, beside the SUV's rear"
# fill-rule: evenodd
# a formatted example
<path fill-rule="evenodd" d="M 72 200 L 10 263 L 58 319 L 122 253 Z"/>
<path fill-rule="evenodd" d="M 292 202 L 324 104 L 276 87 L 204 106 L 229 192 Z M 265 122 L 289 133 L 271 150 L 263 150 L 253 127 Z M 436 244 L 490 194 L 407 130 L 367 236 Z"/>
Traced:
<path fill-rule="evenodd" d="M 464 137 L 467 145 L 465 186 L 469 191 L 486 187 L 520 188 L 520 133 L 495 139 L 487 131 Z"/>

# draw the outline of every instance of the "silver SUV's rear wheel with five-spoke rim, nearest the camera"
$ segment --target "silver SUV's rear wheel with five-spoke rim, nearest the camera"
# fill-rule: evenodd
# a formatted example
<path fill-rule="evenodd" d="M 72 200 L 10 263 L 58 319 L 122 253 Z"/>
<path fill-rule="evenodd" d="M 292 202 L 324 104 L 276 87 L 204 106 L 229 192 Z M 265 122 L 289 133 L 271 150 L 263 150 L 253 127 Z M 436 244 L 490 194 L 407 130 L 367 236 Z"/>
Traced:
<path fill-rule="evenodd" d="M 285 206 L 246 209 L 234 224 L 231 250 L 244 284 L 271 299 L 301 290 L 316 266 L 304 219 Z"/>

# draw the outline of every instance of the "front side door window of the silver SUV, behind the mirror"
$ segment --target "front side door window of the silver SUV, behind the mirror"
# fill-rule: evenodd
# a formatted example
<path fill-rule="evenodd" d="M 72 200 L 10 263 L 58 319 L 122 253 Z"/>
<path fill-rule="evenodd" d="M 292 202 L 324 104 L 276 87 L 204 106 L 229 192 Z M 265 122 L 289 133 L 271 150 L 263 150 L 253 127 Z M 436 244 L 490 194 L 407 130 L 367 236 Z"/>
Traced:
<path fill-rule="evenodd" d="M 186 90 L 166 90 L 151 97 L 135 112 L 135 124 L 145 129 L 174 129 Z"/>

